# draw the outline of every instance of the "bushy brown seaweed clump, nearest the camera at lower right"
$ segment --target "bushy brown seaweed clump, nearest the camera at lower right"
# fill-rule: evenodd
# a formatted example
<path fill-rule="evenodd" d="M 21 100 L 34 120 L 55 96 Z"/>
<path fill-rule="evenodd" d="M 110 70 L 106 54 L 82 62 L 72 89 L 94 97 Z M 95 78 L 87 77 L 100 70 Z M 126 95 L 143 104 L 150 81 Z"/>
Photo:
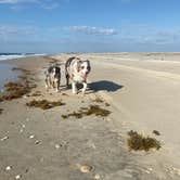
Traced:
<path fill-rule="evenodd" d="M 128 132 L 128 146 L 130 150 L 134 151 L 150 151 L 151 149 L 159 150 L 160 142 L 154 138 L 143 137 L 139 134 L 137 131 L 129 131 Z"/>

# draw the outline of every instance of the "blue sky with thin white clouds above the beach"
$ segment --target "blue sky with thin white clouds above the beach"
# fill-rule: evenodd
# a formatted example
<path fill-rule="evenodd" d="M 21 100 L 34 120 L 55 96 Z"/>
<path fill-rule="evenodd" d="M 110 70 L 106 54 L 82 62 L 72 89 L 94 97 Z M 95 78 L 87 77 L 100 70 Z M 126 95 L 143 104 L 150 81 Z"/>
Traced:
<path fill-rule="evenodd" d="M 180 0 L 0 0 L 0 52 L 180 51 Z"/>

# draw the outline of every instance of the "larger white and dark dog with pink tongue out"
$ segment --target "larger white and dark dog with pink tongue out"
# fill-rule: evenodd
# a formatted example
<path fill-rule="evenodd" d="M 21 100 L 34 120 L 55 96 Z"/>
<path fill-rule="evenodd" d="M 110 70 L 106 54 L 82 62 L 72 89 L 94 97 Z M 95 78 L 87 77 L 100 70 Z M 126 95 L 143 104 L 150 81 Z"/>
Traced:
<path fill-rule="evenodd" d="M 66 86 L 72 80 L 73 93 L 77 93 L 77 83 L 82 83 L 82 93 L 87 89 L 87 76 L 91 70 L 89 60 L 81 60 L 79 57 L 69 57 L 65 64 Z"/>

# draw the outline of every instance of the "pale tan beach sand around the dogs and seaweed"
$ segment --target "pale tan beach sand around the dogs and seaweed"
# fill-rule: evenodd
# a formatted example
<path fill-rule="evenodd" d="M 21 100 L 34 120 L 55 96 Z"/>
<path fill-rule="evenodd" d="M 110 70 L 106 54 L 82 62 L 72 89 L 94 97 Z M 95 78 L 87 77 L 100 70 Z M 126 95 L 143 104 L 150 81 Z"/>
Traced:
<path fill-rule="evenodd" d="M 86 95 L 64 87 L 63 65 L 74 55 L 91 61 Z M 59 54 L 1 63 L 30 70 L 37 87 L 29 97 L 0 103 L 0 179 L 180 179 L 180 53 Z M 44 68 L 54 63 L 63 72 L 59 93 L 44 89 Z M 34 97 L 37 91 L 40 95 Z M 65 105 L 46 111 L 26 106 L 34 99 Z M 62 118 L 92 104 L 112 113 Z M 129 151 L 130 130 L 156 138 L 162 147 Z"/>

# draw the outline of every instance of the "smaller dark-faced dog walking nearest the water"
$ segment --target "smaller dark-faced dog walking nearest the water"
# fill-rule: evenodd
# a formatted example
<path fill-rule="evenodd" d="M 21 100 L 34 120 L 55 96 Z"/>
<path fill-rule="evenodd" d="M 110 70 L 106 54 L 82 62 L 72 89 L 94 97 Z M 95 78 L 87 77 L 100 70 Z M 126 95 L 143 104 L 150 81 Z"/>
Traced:
<path fill-rule="evenodd" d="M 60 90 L 61 83 L 61 68 L 57 66 L 50 66 L 46 70 L 46 88 L 56 89 L 56 92 Z"/>

